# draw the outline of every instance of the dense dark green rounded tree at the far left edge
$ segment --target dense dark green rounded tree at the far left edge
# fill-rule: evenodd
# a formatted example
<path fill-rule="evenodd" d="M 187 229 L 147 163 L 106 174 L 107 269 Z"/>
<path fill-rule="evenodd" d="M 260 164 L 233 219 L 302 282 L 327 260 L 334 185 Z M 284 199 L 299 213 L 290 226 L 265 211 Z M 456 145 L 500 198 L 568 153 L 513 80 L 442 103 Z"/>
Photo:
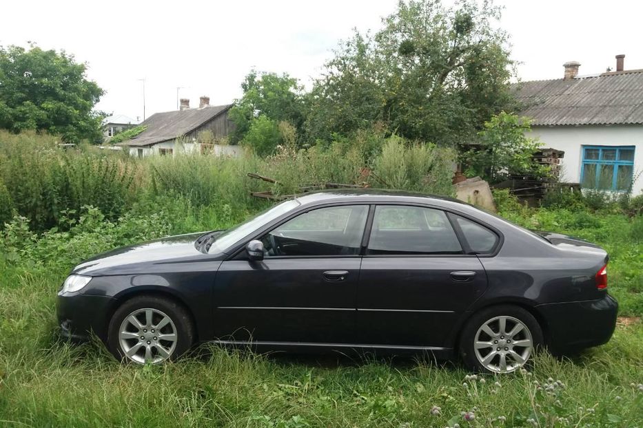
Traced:
<path fill-rule="evenodd" d="M 64 51 L 0 46 L 0 128 L 101 141 L 101 117 L 93 109 L 103 89 L 87 80 L 86 68 Z"/>

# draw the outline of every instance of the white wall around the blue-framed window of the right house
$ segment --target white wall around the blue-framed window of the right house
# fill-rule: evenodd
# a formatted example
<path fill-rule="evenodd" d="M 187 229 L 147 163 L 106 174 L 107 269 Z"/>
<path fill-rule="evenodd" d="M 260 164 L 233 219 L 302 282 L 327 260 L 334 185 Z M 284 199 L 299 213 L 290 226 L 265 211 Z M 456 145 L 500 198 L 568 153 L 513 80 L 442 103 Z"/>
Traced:
<path fill-rule="evenodd" d="M 580 182 L 582 146 L 634 146 L 635 195 L 643 191 L 643 126 L 609 125 L 581 127 L 532 127 L 532 137 L 540 138 L 544 147 L 563 150 L 560 181 Z"/>

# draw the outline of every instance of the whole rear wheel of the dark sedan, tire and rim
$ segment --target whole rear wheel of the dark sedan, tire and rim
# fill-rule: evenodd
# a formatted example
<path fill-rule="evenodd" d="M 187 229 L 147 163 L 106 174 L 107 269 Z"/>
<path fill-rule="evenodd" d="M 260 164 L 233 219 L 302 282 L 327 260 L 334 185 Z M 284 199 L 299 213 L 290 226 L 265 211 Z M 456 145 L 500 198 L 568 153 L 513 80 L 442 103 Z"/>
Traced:
<path fill-rule="evenodd" d="M 460 337 L 460 355 L 471 370 L 511 373 L 527 365 L 542 343 L 540 325 L 527 310 L 495 306 L 471 317 Z"/>

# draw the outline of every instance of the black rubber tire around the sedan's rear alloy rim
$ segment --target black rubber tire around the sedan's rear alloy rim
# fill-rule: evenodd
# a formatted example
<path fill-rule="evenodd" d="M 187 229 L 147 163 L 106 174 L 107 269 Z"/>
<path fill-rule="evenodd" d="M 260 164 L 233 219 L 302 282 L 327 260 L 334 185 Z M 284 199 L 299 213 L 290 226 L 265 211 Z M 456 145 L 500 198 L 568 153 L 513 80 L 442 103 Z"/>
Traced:
<path fill-rule="evenodd" d="M 531 352 L 529 356 L 527 357 L 526 361 L 523 364 L 524 366 L 529 366 L 529 364 L 531 363 L 531 357 L 533 357 L 533 354 L 535 354 L 535 352 L 537 352 L 540 348 L 542 348 L 542 345 L 544 344 L 544 338 L 542 336 L 542 328 L 540 328 L 538 321 L 527 310 L 520 308 L 520 306 L 513 306 L 513 305 L 500 305 L 500 306 L 491 306 L 490 308 L 484 308 L 479 312 L 476 312 L 475 314 L 473 314 L 471 319 L 467 321 L 465 328 L 462 330 L 462 334 L 460 334 L 460 341 L 458 343 L 458 350 L 459 350 L 460 358 L 462 359 L 462 362 L 465 363 L 467 368 L 469 368 L 469 370 L 473 372 L 483 372 L 483 373 L 494 372 L 493 370 L 489 370 L 489 368 L 485 367 L 482 364 L 482 362 L 478 359 L 478 356 L 476 356 L 476 350 L 475 350 L 474 344 L 476 342 L 476 334 L 478 334 L 478 330 L 482 328 L 482 325 L 484 325 L 485 323 L 487 323 L 492 319 L 495 319 L 496 317 L 511 317 L 511 319 L 516 319 L 520 321 L 520 323 L 522 323 L 524 327 L 527 328 L 527 331 L 531 336 L 532 347 L 531 347 Z M 510 320 L 508 322 L 511 323 L 513 321 Z M 517 335 L 517 337 L 519 339 L 524 339 L 526 334 L 527 333 L 523 332 Z M 490 341 L 493 341 L 493 339 L 490 339 Z M 496 346 L 496 345 L 493 345 L 493 346 Z M 524 351 L 524 348 L 516 347 L 516 350 L 520 353 L 520 351 Z M 483 351 L 481 350 L 480 353 L 482 354 L 482 352 Z M 491 349 L 491 352 L 493 352 L 493 349 Z M 498 359 L 499 358 L 500 357 L 498 357 Z M 507 358 L 511 359 L 513 357 L 509 356 Z M 494 361 L 499 361 L 498 359 Z M 513 369 L 513 370 L 516 370 L 516 369 Z M 510 371 L 513 371 L 513 370 L 510 370 Z"/>

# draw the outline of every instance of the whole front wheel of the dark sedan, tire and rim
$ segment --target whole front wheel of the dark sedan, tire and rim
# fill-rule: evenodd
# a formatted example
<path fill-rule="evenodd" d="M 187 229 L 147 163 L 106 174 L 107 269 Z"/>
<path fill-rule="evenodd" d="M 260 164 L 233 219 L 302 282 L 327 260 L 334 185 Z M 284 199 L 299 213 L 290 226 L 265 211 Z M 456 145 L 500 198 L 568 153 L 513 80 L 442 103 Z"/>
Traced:
<path fill-rule="evenodd" d="M 190 314 L 176 302 L 157 296 L 125 301 L 114 312 L 108 348 L 116 359 L 132 363 L 162 363 L 176 359 L 194 343 Z"/>

